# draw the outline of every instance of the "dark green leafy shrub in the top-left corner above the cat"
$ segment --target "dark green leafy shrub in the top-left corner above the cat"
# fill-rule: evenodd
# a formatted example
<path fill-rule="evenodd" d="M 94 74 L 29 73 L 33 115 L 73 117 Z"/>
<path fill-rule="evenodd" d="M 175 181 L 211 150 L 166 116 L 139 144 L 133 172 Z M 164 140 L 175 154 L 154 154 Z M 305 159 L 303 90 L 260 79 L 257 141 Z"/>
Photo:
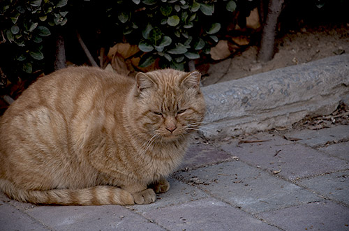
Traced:
<path fill-rule="evenodd" d="M 0 4 L 1 68 L 9 64 L 15 70 L 32 73 L 43 66 L 43 40 L 52 27 L 64 26 L 68 0 L 3 0 Z"/>

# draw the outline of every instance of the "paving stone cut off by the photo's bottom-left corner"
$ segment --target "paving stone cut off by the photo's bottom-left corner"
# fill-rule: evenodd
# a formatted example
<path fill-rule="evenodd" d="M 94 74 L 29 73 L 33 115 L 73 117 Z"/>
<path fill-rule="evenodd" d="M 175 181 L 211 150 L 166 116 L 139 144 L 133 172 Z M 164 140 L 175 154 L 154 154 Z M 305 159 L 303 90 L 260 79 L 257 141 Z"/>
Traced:
<path fill-rule="evenodd" d="M 50 230 L 10 204 L 0 203 L 0 230 Z"/>

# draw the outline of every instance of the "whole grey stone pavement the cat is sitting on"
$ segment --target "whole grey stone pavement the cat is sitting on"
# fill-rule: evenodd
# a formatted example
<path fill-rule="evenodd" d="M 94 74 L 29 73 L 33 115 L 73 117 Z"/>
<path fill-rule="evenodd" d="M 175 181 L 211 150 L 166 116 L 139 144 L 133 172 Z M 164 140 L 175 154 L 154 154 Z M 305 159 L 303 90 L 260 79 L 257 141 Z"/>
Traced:
<path fill-rule="evenodd" d="M 153 204 L 128 207 L 1 194 L 0 230 L 349 230 L 349 125 L 197 138 L 170 184 Z"/>

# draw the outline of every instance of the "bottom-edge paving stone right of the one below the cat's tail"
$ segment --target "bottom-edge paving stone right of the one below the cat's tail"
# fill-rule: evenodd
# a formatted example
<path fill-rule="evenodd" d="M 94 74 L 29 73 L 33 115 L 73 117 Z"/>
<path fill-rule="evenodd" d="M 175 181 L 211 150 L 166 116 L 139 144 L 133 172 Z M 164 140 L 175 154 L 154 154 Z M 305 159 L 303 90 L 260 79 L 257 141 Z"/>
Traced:
<path fill-rule="evenodd" d="M 144 216 L 168 230 L 279 230 L 212 198 L 155 209 Z"/>

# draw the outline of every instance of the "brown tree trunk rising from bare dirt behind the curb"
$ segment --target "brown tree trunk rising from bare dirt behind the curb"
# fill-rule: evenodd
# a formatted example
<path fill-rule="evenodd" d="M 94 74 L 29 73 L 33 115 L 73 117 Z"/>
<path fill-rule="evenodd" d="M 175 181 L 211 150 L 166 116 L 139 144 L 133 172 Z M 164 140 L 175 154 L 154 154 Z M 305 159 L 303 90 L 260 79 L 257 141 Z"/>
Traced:
<path fill-rule="evenodd" d="M 284 0 L 270 0 L 267 18 L 263 25 L 262 40 L 260 42 L 260 52 L 258 60 L 262 62 L 269 61 L 274 56 L 274 43 L 276 24 L 282 10 Z"/>

